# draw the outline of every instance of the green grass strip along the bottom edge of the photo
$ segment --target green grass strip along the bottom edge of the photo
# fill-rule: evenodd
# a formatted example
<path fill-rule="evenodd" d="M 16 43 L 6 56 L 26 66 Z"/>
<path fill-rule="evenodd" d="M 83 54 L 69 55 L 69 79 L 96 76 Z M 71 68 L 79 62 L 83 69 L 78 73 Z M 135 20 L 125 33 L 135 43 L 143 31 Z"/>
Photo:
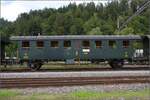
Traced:
<path fill-rule="evenodd" d="M 66 94 L 23 94 L 9 89 L 0 90 L 0 100 L 149 100 L 150 88 L 138 91 L 76 91 Z M 122 98 L 122 99 L 121 99 Z"/>

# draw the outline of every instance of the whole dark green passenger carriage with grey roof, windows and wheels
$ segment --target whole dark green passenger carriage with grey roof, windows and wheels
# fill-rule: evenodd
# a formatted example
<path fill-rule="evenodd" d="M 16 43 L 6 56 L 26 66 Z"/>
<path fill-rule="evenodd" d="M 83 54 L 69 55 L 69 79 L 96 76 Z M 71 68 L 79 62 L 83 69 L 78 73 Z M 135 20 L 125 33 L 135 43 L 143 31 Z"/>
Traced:
<path fill-rule="evenodd" d="M 150 36 L 139 35 L 63 35 L 12 36 L 18 42 L 18 57 L 34 70 L 45 61 L 101 62 L 108 61 L 112 68 L 122 67 L 124 60 L 132 60 L 134 42 L 143 44 L 144 57 L 149 59 Z"/>

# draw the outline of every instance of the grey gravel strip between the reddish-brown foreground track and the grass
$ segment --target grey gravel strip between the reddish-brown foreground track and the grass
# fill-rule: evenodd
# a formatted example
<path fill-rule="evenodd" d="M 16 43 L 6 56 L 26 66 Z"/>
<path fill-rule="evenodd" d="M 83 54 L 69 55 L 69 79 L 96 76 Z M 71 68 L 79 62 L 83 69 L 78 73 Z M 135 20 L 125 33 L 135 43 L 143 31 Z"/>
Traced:
<path fill-rule="evenodd" d="M 24 88 L 12 89 L 21 92 L 24 95 L 31 95 L 34 93 L 70 93 L 76 91 L 93 91 L 93 92 L 111 92 L 111 91 L 137 91 L 143 89 L 150 89 L 150 84 L 117 84 L 117 85 L 86 85 L 86 86 L 63 86 L 63 87 L 44 87 L 44 88 Z"/>

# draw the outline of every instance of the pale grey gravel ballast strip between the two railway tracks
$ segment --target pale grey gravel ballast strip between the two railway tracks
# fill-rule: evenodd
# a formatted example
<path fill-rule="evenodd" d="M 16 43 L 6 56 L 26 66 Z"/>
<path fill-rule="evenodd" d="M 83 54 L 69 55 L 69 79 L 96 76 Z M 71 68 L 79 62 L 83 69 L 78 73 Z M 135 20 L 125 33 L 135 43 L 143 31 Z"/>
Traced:
<path fill-rule="evenodd" d="M 83 71 L 0 73 L 0 78 L 150 76 L 150 71 Z"/>

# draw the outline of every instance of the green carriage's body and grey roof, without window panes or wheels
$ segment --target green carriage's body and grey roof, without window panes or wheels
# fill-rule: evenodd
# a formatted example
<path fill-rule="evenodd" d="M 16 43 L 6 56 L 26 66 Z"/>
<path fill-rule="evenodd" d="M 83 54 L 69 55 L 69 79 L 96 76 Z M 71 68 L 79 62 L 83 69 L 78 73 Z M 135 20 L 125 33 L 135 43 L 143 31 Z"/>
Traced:
<path fill-rule="evenodd" d="M 12 40 L 17 40 L 19 45 L 19 59 L 24 60 L 109 60 L 109 59 L 131 59 L 134 48 L 131 43 L 141 40 L 140 36 L 15 36 Z M 43 47 L 37 47 L 36 42 L 44 42 Z M 71 47 L 65 48 L 64 41 L 71 41 Z M 109 46 L 109 41 L 116 41 L 114 48 Z M 128 40 L 130 45 L 123 47 L 123 40 Z M 22 41 L 29 41 L 30 47 L 22 48 Z M 53 48 L 51 41 L 58 41 L 59 46 Z M 89 41 L 88 48 L 82 46 L 82 41 Z M 96 48 L 95 41 L 101 41 L 100 48 Z"/>

